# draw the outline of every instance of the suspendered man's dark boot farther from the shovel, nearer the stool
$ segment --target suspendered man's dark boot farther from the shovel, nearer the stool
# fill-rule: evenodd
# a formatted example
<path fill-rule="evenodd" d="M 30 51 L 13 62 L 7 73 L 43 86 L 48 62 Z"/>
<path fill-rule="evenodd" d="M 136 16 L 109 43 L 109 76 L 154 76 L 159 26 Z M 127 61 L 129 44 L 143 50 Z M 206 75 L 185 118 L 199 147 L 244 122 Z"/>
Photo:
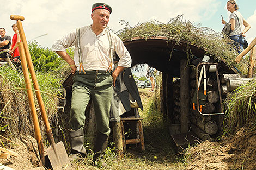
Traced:
<path fill-rule="evenodd" d="M 107 167 L 107 164 L 101 159 L 101 155 L 105 153 L 108 143 L 108 136 L 102 133 L 97 133 L 95 144 L 93 147 L 93 165 Z"/>

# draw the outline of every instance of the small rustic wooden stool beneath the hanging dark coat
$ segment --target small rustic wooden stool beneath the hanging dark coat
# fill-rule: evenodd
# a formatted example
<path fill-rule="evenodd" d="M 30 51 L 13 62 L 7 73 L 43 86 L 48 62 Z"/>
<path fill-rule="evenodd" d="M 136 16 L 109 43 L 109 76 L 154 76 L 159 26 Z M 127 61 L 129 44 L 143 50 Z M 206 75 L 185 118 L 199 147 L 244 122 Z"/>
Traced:
<path fill-rule="evenodd" d="M 142 120 L 141 117 L 125 117 L 121 118 L 121 129 L 122 129 L 122 136 L 123 136 L 123 150 L 126 152 L 126 144 L 141 144 L 141 150 L 145 150 L 145 144 L 144 144 L 144 135 L 143 135 L 143 129 L 142 129 Z M 124 132 L 124 122 L 136 122 L 136 127 L 139 128 L 139 138 L 133 138 L 133 139 L 126 139 L 125 138 L 125 132 Z M 137 136 L 137 135 L 136 135 Z"/>

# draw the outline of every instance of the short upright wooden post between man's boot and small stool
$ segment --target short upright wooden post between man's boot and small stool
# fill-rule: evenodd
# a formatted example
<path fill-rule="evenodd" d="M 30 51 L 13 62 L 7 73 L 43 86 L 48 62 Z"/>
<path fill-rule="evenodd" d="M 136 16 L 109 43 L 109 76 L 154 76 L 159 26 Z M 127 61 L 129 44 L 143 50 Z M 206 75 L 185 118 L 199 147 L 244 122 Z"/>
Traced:
<path fill-rule="evenodd" d="M 123 155 L 123 136 L 120 122 L 113 122 L 113 140 L 119 157 Z"/>

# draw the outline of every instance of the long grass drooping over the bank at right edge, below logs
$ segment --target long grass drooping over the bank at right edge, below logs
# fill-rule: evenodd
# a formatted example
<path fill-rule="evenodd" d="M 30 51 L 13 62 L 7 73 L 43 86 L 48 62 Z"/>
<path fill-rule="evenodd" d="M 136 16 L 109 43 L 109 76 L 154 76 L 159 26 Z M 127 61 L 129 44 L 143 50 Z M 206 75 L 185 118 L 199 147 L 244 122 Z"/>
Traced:
<path fill-rule="evenodd" d="M 256 80 L 239 86 L 227 96 L 225 128 L 227 130 L 256 125 Z"/>

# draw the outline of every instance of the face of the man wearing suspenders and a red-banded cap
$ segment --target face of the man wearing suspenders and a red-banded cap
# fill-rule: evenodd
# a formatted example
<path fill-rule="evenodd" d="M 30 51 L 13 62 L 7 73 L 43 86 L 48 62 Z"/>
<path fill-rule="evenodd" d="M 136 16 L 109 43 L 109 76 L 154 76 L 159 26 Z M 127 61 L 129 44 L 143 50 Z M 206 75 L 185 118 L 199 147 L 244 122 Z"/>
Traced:
<path fill-rule="evenodd" d="M 110 12 L 106 9 L 96 9 L 93 11 L 91 17 L 93 20 L 93 26 L 104 29 L 107 27 L 109 21 Z"/>

